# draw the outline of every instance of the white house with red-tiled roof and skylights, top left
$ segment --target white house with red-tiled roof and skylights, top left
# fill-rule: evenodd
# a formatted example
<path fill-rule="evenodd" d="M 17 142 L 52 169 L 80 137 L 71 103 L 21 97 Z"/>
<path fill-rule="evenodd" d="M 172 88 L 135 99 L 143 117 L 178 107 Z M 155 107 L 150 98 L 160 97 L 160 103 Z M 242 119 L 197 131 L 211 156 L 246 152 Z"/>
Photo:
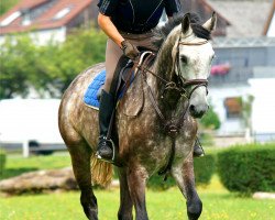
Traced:
<path fill-rule="evenodd" d="M 30 32 L 40 45 L 64 42 L 75 28 L 89 25 L 97 16 L 92 0 L 20 0 L 0 16 L 0 44 L 7 35 Z"/>

